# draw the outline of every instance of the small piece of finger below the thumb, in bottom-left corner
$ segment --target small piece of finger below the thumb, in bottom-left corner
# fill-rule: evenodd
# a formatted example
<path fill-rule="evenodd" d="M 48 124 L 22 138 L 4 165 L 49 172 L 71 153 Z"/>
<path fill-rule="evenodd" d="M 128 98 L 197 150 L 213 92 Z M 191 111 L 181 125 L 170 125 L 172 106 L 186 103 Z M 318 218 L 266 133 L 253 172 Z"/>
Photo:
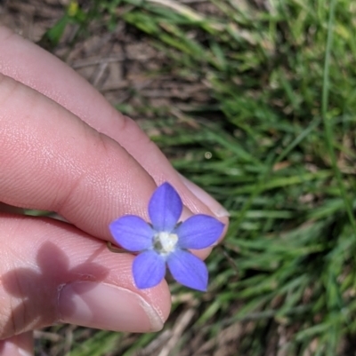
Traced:
<path fill-rule="evenodd" d="M 32 331 L 0 340 L 2 356 L 30 356 L 33 355 Z"/>

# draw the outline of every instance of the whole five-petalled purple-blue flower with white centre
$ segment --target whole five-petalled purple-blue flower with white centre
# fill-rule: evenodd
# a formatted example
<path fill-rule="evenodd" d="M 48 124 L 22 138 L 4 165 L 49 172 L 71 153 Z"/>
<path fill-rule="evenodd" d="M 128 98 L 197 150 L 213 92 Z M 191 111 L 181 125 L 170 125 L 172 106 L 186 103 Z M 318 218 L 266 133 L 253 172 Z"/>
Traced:
<path fill-rule="evenodd" d="M 109 225 L 117 244 L 132 252 L 134 282 L 139 289 L 156 286 L 166 274 L 192 289 L 206 291 L 207 269 L 188 249 L 205 249 L 223 233 L 223 223 L 198 214 L 178 223 L 182 199 L 169 183 L 158 186 L 149 203 L 151 225 L 135 215 L 118 218 Z"/>

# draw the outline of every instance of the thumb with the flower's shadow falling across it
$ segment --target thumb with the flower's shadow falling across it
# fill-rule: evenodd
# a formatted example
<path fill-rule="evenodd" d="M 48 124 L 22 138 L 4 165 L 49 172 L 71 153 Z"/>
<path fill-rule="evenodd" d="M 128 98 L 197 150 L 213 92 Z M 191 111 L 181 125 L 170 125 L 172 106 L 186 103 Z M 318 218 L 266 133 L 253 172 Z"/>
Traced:
<path fill-rule="evenodd" d="M 8 251 L 0 260 L 1 338 L 58 322 L 132 332 L 162 328 L 170 309 L 166 282 L 136 289 L 133 256 L 114 254 L 103 241 L 51 219 L 2 215 L 0 225 Z"/>

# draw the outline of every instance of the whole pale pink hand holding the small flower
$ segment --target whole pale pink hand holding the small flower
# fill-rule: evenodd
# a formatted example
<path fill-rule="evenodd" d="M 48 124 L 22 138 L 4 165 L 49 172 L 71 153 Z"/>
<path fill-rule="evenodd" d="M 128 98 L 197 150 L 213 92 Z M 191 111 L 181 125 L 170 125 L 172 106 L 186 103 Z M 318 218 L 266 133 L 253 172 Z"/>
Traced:
<path fill-rule="evenodd" d="M 228 223 L 221 205 L 182 178 L 134 121 L 61 60 L 2 27 L 0 167 L 4 356 L 32 354 L 32 330 L 58 322 L 163 327 L 166 281 L 136 289 L 134 256 L 106 245 L 115 218 L 148 218 L 158 184 L 169 181 L 181 194 L 183 218 L 203 213 Z M 25 217 L 20 208 L 55 211 L 69 223 Z"/>

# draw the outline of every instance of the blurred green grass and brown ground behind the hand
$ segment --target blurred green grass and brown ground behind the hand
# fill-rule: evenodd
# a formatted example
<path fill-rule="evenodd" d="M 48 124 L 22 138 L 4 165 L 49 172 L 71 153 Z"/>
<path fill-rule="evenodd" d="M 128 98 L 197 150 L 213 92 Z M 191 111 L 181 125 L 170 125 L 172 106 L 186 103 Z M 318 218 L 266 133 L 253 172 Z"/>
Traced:
<path fill-rule="evenodd" d="M 161 332 L 57 326 L 36 332 L 37 354 L 354 355 L 356 3 L 47 3 L 33 39 L 136 119 L 231 226 L 206 294 L 171 283 Z"/>

